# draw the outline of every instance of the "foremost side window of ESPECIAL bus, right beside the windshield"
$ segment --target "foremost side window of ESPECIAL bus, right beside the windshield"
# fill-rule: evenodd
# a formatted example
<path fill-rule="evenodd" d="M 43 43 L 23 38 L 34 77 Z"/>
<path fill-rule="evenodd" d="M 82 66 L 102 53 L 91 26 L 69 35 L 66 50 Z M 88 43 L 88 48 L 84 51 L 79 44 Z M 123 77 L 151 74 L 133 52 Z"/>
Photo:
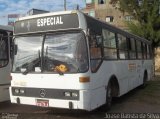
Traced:
<path fill-rule="evenodd" d="M 94 35 L 90 36 L 89 42 L 90 42 L 91 71 L 96 72 L 102 60 L 101 47 L 97 45 L 96 36 Z"/>

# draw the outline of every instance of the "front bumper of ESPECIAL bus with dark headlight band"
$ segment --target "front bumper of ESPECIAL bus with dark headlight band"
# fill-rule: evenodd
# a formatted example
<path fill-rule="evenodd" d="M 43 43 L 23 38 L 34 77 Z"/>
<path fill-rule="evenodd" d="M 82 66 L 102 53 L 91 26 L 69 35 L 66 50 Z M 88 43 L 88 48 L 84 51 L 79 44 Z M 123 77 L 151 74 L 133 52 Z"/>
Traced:
<path fill-rule="evenodd" d="M 24 89 L 24 94 L 15 94 L 14 90 Z M 29 88 L 17 88 L 10 87 L 10 99 L 11 103 L 25 104 L 25 105 L 37 105 L 37 100 L 44 100 L 48 102 L 48 105 L 41 105 L 46 107 L 66 108 L 66 109 L 82 109 L 91 110 L 90 106 L 90 91 L 89 90 L 61 90 L 61 89 L 45 89 L 46 95 L 40 96 L 41 91 L 44 89 L 29 89 Z M 77 97 L 65 97 L 63 92 L 76 92 Z M 47 95 L 48 94 L 48 95 Z"/>

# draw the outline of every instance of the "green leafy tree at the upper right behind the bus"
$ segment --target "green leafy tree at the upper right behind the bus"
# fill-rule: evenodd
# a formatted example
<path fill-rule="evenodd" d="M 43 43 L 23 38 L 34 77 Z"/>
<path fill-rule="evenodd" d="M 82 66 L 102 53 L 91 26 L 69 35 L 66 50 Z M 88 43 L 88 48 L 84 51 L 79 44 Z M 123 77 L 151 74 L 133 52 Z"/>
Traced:
<path fill-rule="evenodd" d="M 160 2 L 159 0 L 111 0 L 119 5 L 123 13 L 133 16 L 128 22 L 129 30 L 152 42 L 152 49 L 160 46 Z"/>

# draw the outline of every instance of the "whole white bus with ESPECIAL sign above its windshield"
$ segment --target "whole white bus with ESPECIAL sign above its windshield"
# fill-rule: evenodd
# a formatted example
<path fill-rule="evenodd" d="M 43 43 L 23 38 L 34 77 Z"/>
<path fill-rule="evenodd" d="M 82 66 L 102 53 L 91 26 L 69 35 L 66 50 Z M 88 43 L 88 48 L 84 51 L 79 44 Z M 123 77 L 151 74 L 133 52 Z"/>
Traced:
<path fill-rule="evenodd" d="M 152 77 L 149 41 L 79 11 L 20 18 L 14 43 L 12 103 L 91 111 Z"/>

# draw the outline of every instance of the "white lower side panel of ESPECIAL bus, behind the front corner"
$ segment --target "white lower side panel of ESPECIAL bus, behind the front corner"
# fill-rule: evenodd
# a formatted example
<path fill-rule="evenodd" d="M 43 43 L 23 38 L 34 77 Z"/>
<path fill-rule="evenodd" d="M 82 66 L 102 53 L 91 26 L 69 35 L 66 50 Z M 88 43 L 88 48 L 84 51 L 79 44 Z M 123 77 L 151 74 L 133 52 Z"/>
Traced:
<path fill-rule="evenodd" d="M 90 76 L 92 79 L 90 84 L 91 89 L 107 86 L 113 75 L 116 76 L 118 80 L 120 87 L 119 96 L 127 93 L 137 86 L 140 86 L 143 83 L 145 70 L 147 71 L 148 79 L 150 80 L 153 69 L 153 62 L 151 60 L 144 61 L 143 65 L 141 62 L 142 61 L 140 60 L 104 61 L 99 70 L 96 73 L 92 73 Z M 130 64 L 132 66 L 129 67 Z M 107 69 L 106 67 L 109 68 Z"/>

